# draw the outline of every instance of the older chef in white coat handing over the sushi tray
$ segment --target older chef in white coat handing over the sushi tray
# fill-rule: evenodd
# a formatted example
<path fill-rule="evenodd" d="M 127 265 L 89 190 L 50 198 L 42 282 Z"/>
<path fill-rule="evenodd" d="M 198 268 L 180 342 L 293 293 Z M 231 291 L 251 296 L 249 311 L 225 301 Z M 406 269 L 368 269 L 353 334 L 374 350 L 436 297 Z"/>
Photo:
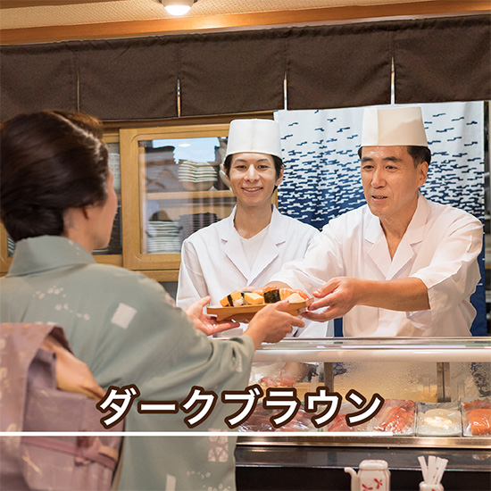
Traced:
<path fill-rule="evenodd" d="M 420 107 L 367 108 L 359 154 L 367 204 L 329 221 L 270 285 L 314 295 L 304 317 L 342 317 L 345 336 L 470 336 L 482 225 L 421 195 L 431 154 Z"/>

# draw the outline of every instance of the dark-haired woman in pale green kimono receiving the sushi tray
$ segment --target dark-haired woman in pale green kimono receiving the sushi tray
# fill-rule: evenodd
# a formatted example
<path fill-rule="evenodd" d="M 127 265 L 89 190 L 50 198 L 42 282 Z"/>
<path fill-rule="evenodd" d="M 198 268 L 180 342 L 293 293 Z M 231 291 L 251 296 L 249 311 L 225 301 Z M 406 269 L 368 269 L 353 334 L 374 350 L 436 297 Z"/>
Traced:
<path fill-rule="evenodd" d="M 16 241 L 0 279 L 0 320 L 52 322 L 98 384 L 136 386 L 140 401 L 182 404 L 194 389 L 217 395 L 198 431 L 227 429 L 237 407 L 221 393 L 245 388 L 254 348 L 304 322 L 286 302 L 259 312 L 244 336 L 206 337 L 203 302 L 185 312 L 154 280 L 97 264 L 111 237 L 117 197 L 102 126 L 78 113 L 21 114 L 0 128 L 1 219 Z M 194 437 L 178 412 L 127 413 L 129 431 L 179 431 L 178 437 L 127 437 L 120 489 L 234 489 L 232 437 Z M 178 434 L 179 435 L 179 434 Z"/>

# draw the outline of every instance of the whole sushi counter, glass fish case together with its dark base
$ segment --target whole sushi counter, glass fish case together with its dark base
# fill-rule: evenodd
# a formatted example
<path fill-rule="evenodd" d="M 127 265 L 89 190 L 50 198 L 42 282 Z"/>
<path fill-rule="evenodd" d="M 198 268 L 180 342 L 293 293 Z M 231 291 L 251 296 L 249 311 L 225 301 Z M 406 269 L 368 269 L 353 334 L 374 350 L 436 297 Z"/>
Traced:
<path fill-rule="evenodd" d="M 430 455 L 448 461 L 446 491 L 491 489 L 487 337 L 285 339 L 257 350 L 254 385 L 264 400 L 238 429 L 239 490 L 348 490 L 345 468 L 367 459 L 388 463 L 392 490 L 418 490 Z M 300 404 L 279 425 L 274 395 L 291 388 Z"/>

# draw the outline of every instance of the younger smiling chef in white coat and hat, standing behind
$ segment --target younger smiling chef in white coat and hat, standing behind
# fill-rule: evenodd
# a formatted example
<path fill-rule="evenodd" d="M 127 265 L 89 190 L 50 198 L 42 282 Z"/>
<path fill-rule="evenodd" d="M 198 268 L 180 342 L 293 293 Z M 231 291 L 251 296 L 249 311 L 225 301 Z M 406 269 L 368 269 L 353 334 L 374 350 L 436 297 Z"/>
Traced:
<path fill-rule="evenodd" d="M 264 285 L 283 263 L 304 257 L 313 237 L 320 233 L 271 204 L 283 179 L 276 121 L 232 121 L 223 168 L 237 205 L 228 218 L 183 242 L 176 300 L 184 310 L 208 296 L 216 305 L 237 288 Z M 306 322 L 292 336 L 332 336 L 331 324 Z M 215 336 L 236 336 L 239 331 L 242 328 L 237 327 Z"/>

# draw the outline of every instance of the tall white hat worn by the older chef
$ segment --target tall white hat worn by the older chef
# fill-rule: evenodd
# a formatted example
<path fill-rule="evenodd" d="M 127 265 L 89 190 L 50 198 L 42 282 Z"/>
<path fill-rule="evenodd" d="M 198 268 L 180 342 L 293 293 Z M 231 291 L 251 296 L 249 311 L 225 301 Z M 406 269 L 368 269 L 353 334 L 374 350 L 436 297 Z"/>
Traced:
<path fill-rule="evenodd" d="M 428 146 L 420 106 L 367 107 L 363 113 L 362 146 Z"/>

